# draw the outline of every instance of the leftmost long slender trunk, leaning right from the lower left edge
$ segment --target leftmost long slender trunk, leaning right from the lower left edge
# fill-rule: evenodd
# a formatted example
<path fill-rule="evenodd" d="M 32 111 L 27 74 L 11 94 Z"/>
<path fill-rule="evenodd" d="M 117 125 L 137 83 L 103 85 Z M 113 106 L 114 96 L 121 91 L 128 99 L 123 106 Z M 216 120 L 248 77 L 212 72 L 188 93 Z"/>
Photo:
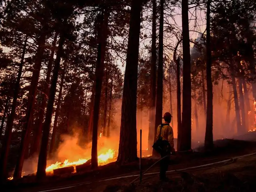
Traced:
<path fill-rule="evenodd" d="M 12 126 L 13 126 L 13 121 L 14 121 L 14 117 L 15 117 L 17 98 L 18 98 L 19 91 L 20 91 L 20 78 L 21 78 L 22 68 L 23 68 L 23 64 L 24 64 L 27 40 L 28 40 L 28 36 L 26 36 L 24 45 L 23 45 L 23 50 L 22 50 L 22 55 L 21 55 L 21 60 L 20 60 L 20 67 L 19 67 L 18 76 L 17 76 L 17 80 L 15 83 L 15 87 L 14 87 L 11 114 L 7 118 L 7 124 L 6 124 L 5 132 L 4 132 L 4 140 L 2 142 L 1 156 L 0 156 L 0 170 L 2 170 L 2 171 L 0 172 L 0 174 L 1 174 L 0 180 L 5 179 L 5 177 L 7 176 L 7 159 L 8 159 L 8 154 L 9 154 L 9 149 L 10 149 L 10 144 L 11 144 L 11 139 L 12 139 Z"/>

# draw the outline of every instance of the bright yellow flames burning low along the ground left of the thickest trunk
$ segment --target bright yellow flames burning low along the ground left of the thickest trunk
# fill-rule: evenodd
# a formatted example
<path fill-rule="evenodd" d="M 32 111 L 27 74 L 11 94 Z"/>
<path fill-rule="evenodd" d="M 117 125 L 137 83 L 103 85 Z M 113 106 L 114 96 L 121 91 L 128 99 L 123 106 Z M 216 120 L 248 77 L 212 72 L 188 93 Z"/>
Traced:
<path fill-rule="evenodd" d="M 100 154 L 98 156 L 99 165 L 104 165 L 104 164 L 108 164 L 108 163 L 115 161 L 116 159 L 114 158 L 114 153 L 115 153 L 114 150 L 108 149 L 108 151 L 106 153 Z M 68 166 L 72 166 L 72 165 L 74 165 L 74 166 L 81 165 L 81 164 L 86 163 L 88 160 L 89 159 L 79 159 L 78 161 L 69 162 L 68 159 L 66 159 L 63 163 L 56 162 L 55 164 L 49 165 L 45 169 L 45 171 L 52 173 L 54 169 L 59 169 L 59 168 L 68 167 Z"/>

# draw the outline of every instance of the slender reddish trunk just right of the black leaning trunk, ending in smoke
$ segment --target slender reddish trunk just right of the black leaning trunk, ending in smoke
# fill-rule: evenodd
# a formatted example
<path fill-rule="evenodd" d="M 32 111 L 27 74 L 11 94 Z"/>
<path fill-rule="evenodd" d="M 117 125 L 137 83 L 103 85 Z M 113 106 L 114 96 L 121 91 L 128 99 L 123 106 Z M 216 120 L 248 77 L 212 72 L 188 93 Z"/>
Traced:
<path fill-rule="evenodd" d="M 58 124 L 58 117 L 60 113 L 60 101 L 61 101 L 61 95 L 62 95 L 62 87 L 64 84 L 64 78 L 65 78 L 65 72 L 66 72 L 66 63 L 64 63 L 64 68 L 62 69 L 62 74 L 61 74 L 61 80 L 60 80 L 60 91 L 58 95 L 58 100 L 57 100 L 57 107 L 55 111 L 55 116 L 54 116 L 54 123 L 53 123 L 53 128 L 52 128 L 52 139 L 51 139 L 51 145 L 50 145 L 50 156 L 53 155 L 53 152 L 55 151 L 55 138 L 56 138 L 56 131 L 57 131 L 57 124 Z"/>

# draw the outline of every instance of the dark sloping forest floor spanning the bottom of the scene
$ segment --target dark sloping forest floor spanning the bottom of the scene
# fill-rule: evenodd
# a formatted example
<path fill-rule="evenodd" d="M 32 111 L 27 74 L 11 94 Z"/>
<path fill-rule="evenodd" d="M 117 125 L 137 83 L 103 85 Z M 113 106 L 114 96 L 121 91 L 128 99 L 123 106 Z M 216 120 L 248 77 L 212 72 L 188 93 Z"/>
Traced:
<path fill-rule="evenodd" d="M 250 133 L 249 136 L 250 141 L 217 140 L 211 152 L 193 152 L 172 156 L 169 171 L 205 164 L 211 165 L 182 172 L 170 172 L 168 173 L 169 182 L 159 181 L 157 174 L 159 164 L 157 163 L 146 175 L 143 175 L 141 183 L 138 179 L 134 184 L 129 185 L 139 175 L 139 162 L 134 162 L 124 166 L 111 163 L 94 171 L 48 176 L 41 182 L 37 182 L 35 176 L 28 176 L 20 180 L 9 181 L 3 187 L 4 191 L 8 192 L 256 191 L 256 154 L 229 160 L 236 156 L 256 152 L 256 132 Z M 142 159 L 142 170 L 145 171 L 157 160 Z M 220 161 L 224 162 L 212 164 Z"/>

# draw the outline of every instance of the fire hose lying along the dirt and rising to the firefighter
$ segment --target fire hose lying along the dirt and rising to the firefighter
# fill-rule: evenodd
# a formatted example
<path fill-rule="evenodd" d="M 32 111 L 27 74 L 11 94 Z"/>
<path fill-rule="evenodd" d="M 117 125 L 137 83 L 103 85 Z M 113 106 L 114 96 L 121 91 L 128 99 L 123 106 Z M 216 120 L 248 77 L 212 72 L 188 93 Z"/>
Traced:
<path fill-rule="evenodd" d="M 221 163 L 226 163 L 226 162 L 234 162 L 236 159 L 241 159 L 247 156 L 252 156 L 252 155 L 256 155 L 255 153 L 251 153 L 251 154 L 247 154 L 247 155 L 243 155 L 243 156 L 236 156 L 227 160 L 223 160 L 223 161 L 218 161 L 218 162 L 214 162 L 214 163 L 210 163 L 210 164 L 204 164 L 204 165 L 199 165 L 199 166 L 193 166 L 193 167 L 187 167 L 187 168 L 183 168 L 183 169 L 177 169 L 177 170 L 171 170 L 171 171 L 167 171 L 166 173 L 173 173 L 173 172 L 184 172 L 184 171 L 189 171 L 189 170 L 193 170 L 196 168 L 207 168 L 207 166 L 210 165 L 216 165 L 216 164 L 221 164 Z M 163 157 L 163 158 L 166 158 Z M 155 174 L 159 174 L 159 172 L 153 172 L 153 173 L 146 173 L 149 169 L 151 169 L 156 163 L 158 163 L 160 160 L 162 160 L 163 158 L 159 159 L 157 162 L 155 162 L 154 164 L 152 164 L 146 171 L 144 171 L 142 173 L 142 175 L 155 175 Z M 136 174 L 136 175 L 127 175 L 127 176 L 121 176 L 121 177 L 115 177 L 115 178 L 109 178 L 109 179 L 103 179 L 103 180 L 99 180 L 98 182 L 103 182 L 103 181 L 109 181 L 109 180 L 118 180 L 118 179 L 124 179 L 124 178 L 130 178 L 130 177 L 137 177 L 135 180 L 133 180 L 130 184 L 134 183 L 136 180 L 138 180 L 140 178 L 140 174 Z M 66 186 L 61 186 L 59 188 L 48 188 L 48 189 L 44 189 L 41 191 L 37 191 L 37 192 L 49 192 L 49 191 L 57 191 L 57 190 L 61 190 L 61 189 L 68 189 L 68 188 L 74 188 L 77 186 L 82 186 L 82 185 L 88 185 L 91 184 L 92 182 L 81 182 L 81 183 L 77 183 L 77 184 L 73 184 L 73 185 L 66 185 Z"/>

